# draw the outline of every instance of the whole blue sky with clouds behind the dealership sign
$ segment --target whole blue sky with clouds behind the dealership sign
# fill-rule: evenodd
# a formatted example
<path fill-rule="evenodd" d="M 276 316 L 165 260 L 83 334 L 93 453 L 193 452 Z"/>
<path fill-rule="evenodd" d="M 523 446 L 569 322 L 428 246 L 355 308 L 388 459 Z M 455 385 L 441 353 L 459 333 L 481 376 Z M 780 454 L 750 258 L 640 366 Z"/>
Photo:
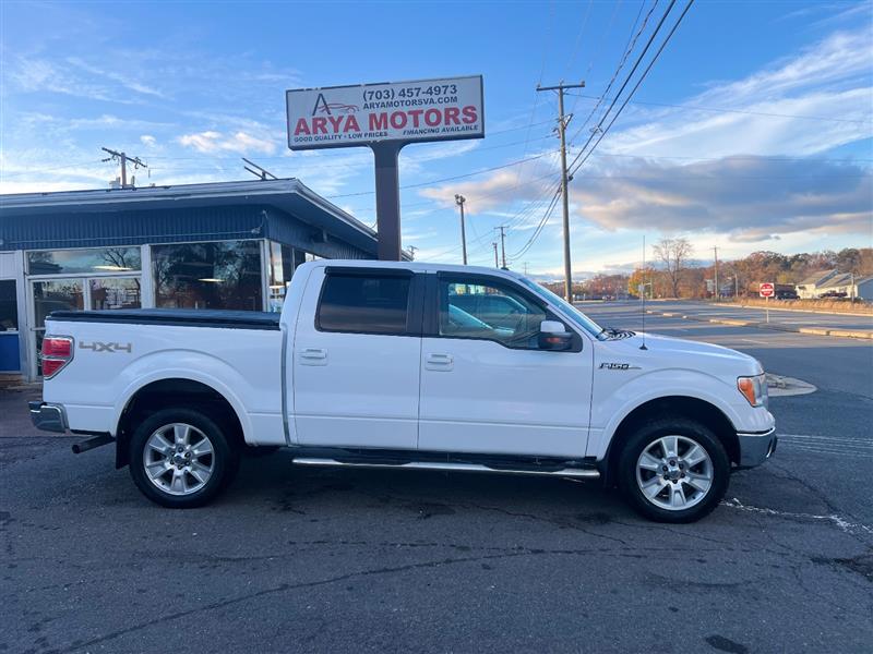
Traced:
<path fill-rule="evenodd" d="M 463 193 L 470 263 L 493 263 L 509 225 L 514 268 L 559 272 L 560 211 L 537 229 L 559 179 L 557 98 L 535 88 L 585 80 L 566 98 L 575 157 L 632 36 L 651 11 L 618 83 L 668 4 L 7 0 L 0 191 L 106 187 L 100 146 L 147 161 L 140 185 L 246 179 L 247 156 L 373 223 L 369 149 L 290 153 L 284 90 L 482 74 L 485 140 L 402 154 L 404 245 L 458 261 Z M 697 258 L 870 246 L 872 7 L 697 0 L 571 184 L 574 270 L 633 266 L 644 234 L 687 237 Z"/>

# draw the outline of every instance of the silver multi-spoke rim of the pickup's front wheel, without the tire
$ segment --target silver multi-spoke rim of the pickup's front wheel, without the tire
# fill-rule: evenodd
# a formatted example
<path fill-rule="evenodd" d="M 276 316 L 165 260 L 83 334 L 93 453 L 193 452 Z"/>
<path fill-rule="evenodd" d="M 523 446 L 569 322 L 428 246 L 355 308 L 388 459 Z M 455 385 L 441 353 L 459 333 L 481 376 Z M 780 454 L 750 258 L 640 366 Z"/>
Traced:
<path fill-rule="evenodd" d="M 713 460 L 687 436 L 653 440 L 636 460 L 636 483 L 656 507 L 681 511 L 699 504 L 713 487 Z"/>

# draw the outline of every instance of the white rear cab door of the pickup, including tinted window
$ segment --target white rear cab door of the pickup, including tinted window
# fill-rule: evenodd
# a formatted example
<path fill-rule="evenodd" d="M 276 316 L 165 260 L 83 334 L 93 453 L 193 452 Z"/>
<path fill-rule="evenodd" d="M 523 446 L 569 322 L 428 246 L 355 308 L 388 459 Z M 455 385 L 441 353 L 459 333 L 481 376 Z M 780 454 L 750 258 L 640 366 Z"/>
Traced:
<path fill-rule="evenodd" d="M 298 443 L 415 449 L 423 291 L 411 270 L 313 270 L 294 342 Z"/>

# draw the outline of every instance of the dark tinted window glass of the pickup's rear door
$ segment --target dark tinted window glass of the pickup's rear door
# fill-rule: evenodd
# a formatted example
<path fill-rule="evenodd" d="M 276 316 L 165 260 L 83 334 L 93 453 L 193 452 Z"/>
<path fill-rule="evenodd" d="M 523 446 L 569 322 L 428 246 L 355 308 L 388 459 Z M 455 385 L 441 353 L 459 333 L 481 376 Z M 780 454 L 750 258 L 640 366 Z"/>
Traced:
<path fill-rule="evenodd" d="M 316 325 L 322 331 L 406 334 L 409 277 L 324 278 Z"/>

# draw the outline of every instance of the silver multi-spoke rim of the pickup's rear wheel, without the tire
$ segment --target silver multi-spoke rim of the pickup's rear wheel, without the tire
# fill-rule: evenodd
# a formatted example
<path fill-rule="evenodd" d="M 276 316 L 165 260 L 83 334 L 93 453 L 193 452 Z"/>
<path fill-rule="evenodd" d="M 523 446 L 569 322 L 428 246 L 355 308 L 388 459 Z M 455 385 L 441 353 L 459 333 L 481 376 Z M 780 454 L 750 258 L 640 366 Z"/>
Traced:
<path fill-rule="evenodd" d="M 156 429 L 145 443 L 144 455 L 145 474 L 170 495 L 196 493 L 215 470 L 212 441 L 203 432 L 184 423 Z"/>

